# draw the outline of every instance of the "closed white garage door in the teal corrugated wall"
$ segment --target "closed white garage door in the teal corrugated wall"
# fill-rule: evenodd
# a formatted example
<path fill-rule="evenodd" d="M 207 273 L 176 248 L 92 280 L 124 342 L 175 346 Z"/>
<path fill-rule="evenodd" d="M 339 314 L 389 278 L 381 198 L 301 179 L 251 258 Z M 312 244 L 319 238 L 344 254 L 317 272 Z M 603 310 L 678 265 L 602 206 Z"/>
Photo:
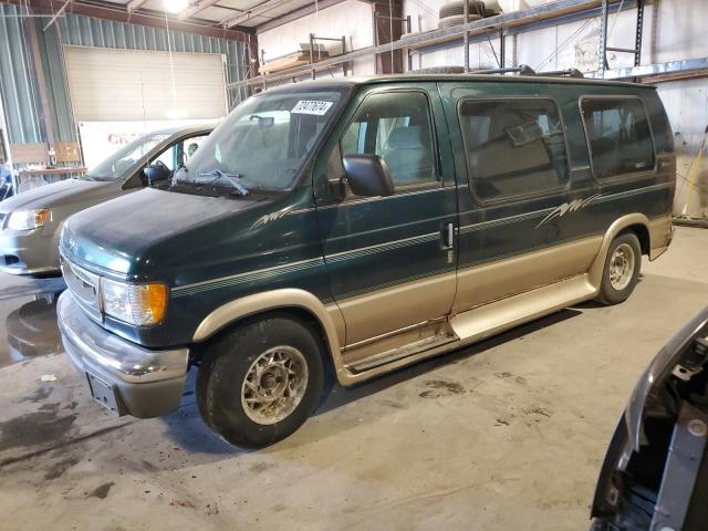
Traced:
<path fill-rule="evenodd" d="M 64 46 L 80 122 L 218 118 L 227 113 L 223 56 Z M 174 82 L 174 83 L 173 83 Z"/>

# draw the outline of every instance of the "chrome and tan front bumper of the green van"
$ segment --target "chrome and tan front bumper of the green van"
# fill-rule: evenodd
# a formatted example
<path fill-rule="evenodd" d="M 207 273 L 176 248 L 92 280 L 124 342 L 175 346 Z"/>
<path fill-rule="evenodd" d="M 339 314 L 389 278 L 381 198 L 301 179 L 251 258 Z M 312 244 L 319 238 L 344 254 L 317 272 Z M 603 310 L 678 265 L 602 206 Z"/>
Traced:
<path fill-rule="evenodd" d="M 92 389 L 95 379 L 112 389 L 118 415 L 158 417 L 179 406 L 189 348 L 153 351 L 123 340 L 88 319 L 69 292 L 56 315 L 64 351 Z"/>

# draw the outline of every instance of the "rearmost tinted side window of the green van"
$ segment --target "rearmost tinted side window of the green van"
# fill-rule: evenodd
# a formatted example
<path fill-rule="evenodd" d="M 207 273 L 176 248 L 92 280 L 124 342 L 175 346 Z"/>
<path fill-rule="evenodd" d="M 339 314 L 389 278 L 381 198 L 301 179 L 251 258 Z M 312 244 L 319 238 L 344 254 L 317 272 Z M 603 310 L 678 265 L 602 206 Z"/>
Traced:
<path fill-rule="evenodd" d="M 614 177 L 654 167 L 654 143 L 644 105 L 637 98 L 581 102 L 593 173 Z"/>

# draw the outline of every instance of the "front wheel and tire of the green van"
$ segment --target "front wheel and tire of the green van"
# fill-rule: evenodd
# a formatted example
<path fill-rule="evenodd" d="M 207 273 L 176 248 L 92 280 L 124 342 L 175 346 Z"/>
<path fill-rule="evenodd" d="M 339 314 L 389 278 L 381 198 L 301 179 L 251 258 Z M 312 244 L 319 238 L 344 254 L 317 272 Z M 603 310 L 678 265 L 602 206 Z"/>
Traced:
<path fill-rule="evenodd" d="M 296 319 L 274 314 L 246 323 L 219 336 L 206 351 L 197 375 L 199 413 L 232 445 L 263 448 L 284 439 L 320 404 L 325 379 L 322 343 Z M 267 402 L 259 402 L 264 396 L 280 396 L 280 410 L 269 410 Z"/>

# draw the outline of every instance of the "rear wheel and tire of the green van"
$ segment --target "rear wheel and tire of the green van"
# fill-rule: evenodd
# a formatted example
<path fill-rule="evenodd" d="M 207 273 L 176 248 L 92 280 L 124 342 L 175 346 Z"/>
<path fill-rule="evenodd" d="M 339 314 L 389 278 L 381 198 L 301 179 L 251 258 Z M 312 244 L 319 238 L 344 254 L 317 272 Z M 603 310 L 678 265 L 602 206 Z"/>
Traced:
<path fill-rule="evenodd" d="M 620 264 L 624 264 L 624 273 L 617 278 Z M 642 248 L 636 235 L 625 232 L 617 236 L 607 249 L 596 301 L 607 305 L 626 301 L 639 280 L 641 270 Z"/>

